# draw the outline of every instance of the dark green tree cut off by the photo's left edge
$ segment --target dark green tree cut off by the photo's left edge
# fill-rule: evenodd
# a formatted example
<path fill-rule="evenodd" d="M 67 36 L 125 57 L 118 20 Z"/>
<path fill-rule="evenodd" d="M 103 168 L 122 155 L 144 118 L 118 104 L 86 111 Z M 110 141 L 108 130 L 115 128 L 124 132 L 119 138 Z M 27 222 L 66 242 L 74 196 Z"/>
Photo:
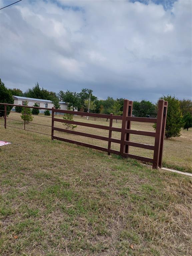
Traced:
<path fill-rule="evenodd" d="M 0 102 L 13 104 L 14 100 L 11 94 L 11 91 L 5 87 L 5 84 L 0 79 Z M 5 116 L 4 105 L 0 105 L 0 117 Z M 13 106 L 7 106 L 7 116 L 10 114 Z"/>

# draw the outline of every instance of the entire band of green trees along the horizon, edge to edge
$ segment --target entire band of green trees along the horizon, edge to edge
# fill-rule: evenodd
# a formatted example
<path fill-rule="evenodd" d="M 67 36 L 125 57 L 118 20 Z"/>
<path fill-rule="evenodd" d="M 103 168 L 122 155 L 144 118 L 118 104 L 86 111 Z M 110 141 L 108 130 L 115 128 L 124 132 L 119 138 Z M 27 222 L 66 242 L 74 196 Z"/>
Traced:
<path fill-rule="evenodd" d="M 89 109 L 89 112 L 91 113 L 113 113 L 114 115 L 122 115 L 123 113 L 124 98 L 114 99 L 108 96 L 107 99 L 100 100 L 97 98 L 97 96 L 93 95 L 93 90 L 86 88 L 82 89 L 81 92 L 60 90 L 59 93 L 56 93 L 41 88 L 38 82 L 31 89 L 28 89 L 26 92 L 22 92 L 17 88 L 6 88 L 0 79 L 0 102 L 13 104 L 13 95 L 51 100 L 56 109 L 60 108 L 59 101 L 64 101 L 68 103 L 68 107 L 70 109 L 77 109 L 81 112 L 88 112 Z M 161 99 L 168 101 L 165 131 L 166 138 L 180 136 L 181 128 L 188 130 L 190 127 L 192 127 L 192 101 L 190 99 L 179 100 L 175 96 L 171 95 L 162 96 Z M 1 105 L 0 116 L 4 115 L 4 112 L 2 111 L 3 108 L 4 106 Z M 132 114 L 136 117 L 155 117 L 157 115 L 157 109 L 158 102 L 154 104 L 147 100 L 134 101 Z"/>

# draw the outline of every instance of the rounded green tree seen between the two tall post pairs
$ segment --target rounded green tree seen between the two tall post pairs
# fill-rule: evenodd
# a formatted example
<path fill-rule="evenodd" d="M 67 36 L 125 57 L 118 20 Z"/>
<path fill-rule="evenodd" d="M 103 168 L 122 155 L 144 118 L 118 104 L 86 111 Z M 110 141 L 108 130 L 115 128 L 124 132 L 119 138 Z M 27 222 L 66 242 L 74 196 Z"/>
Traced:
<path fill-rule="evenodd" d="M 147 115 L 156 114 L 155 104 L 146 100 L 134 101 L 132 113 L 137 117 L 147 117 Z"/>

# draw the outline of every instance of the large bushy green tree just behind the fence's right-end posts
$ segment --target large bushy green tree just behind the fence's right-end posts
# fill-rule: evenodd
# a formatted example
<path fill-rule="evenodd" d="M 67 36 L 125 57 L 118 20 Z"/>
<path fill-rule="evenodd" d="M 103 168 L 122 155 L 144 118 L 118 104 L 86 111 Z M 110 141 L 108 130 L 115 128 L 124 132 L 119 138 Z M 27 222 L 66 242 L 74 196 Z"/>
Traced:
<path fill-rule="evenodd" d="M 165 137 L 166 139 L 179 137 L 181 135 L 181 128 L 185 124 L 180 109 L 180 102 L 175 96 L 171 95 L 163 96 L 160 99 L 168 101 Z M 156 124 L 154 124 L 153 127 L 156 129 Z"/>

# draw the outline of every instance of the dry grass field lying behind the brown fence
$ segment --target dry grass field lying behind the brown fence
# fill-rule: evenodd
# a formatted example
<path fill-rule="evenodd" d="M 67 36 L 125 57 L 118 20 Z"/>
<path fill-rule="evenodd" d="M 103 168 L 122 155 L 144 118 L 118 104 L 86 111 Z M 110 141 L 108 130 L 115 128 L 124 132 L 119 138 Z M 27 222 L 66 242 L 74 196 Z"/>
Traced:
<path fill-rule="evenodd" d="M 18 113 L 11 113 L 9 115 L 9 118 L 12 119 L 18 119 L 21 120 L 20 117 L 21 114 Z M 62 116 L 57 116 L 58 118 L 62 118 Z M 80 117 L 75 116 L 75 121 L 80 122 L 89 122 L 94 124 L 101 124 L 101 125 L 109 125 L 109 122 L 106 122 L 106 119 L 97 119 L 94 120 L 94 118 L 89 118 L 87 120 L 86 117 Z M 0 123 L 2 124 L 4 120 L 0 120 Z M 33 123 L 40 123 L 45 125 L 51 125 L 51 118 L 45 118 L 42 116 L 34 116 Z M 11 126 L 16 126 L 23 128 L 23 123 L 14 121 L 14 120 L 7 120 L 7 124 Z M 154 131 L 154 128 L 152 127 L 152 123 L 141 123 L 141 122 L 132 122 L 131 128 L 135 130 L 143 130 L 143 131 Z M 65 128 L 62 123 L 55 122 L 56 127 Z M 121 128 L 121 120 L 118 120 L 118 123 L 116 123 L 116 120 L 113 120 L 113 126 Z M 14 129 L 14 128 L 9 128 Z M 46 126 L 40 126 L 40 125 L 34 125 L 34 124 L 28 124 L 26 125 L 26 129 L 31 131 L 38 131 L 46 134 L 51 134 L 51 127 Z M 75 131 L 80 132 L 87 132 L 91 134 L 97 134 L 101 136 L 108 137 L 108 131 L 107 130 L 101 130 L 101 129 L 95 129 L 85 126 L 77 126 L 75 128 Z M 64 137 L 67 139 L 82 141 L 89 144 L 94 144 L 102 147 L 107 147 L 108 142 L 101 141 L 97 139 L 82 137 L 74 134 L 67 134 L 63 132 L 55 131 L 54 134 L 59 137 Z M 112 132 L 112 137 L 120 139 L 121 133 L 120 132 Z M 145 144 L 154 145 L 155 138 L 149 137 L 149 136 L 141 136 L 141 135 L 130 135 L 130 140 L 134 142 L 140 142 Z M 111 143 L 112 149 L 119 150 L 120 144 Z M 130 154 L 140 155 L 140 156 L 146 156 L 153 158 L 153 151 L 137 148 L 137 147 L 130 147 Z M 189 129 L 189 131 L 182 130 L 181 136 L 177 138 L 171 138 L 164 141 L 164 151 L 163 151 L 163 167 L 173 168 L 177 169 L 179 171 L 187 171 L 192 172 L 192 128 Z"/>

